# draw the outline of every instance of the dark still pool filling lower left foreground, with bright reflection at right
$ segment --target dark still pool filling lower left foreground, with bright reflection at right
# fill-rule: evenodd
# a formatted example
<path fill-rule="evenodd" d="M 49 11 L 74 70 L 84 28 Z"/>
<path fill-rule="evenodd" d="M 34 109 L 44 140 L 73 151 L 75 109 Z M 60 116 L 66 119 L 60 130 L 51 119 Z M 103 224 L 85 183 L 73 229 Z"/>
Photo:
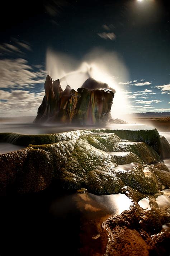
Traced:
<path fill-rule="evenodd" d="M 128 210 L 132 201 L 124 194 L 58 195 L 47 189 L 1 197 L 0 204 L 1 256 L 103 255 L 107 235 L 101 224 Z"/>

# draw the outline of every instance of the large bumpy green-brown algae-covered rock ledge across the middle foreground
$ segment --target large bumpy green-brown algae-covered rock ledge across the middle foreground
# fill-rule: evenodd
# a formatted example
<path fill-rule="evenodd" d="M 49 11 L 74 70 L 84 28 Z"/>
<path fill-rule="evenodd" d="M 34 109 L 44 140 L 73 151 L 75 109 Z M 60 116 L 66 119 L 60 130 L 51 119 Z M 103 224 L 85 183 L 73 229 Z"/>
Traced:
<path fill-rule="evenodd" d="M 25 144 L 56 142 L 30 144 L 26 149 L 1 154 L 1 190 L 12 186 L 20 193 L 34 192 L 56 181 L 58 189 L 67 191 L 85 188 L 94 194 L 112 194 L 121 193 L 127 186 L 139 193 L 154 195 L 165 183 L 153 169 L 154 163 L 160 162 L 153 148 L 143 142 L 122 142 L 111 131 L 78 130 L 47 135 L 4 133 L 1 138 Z M 153 163 L 151 169 L 150 163 Z M 142 164 L 149 166 L 149 171 L 144 170 Z"/>

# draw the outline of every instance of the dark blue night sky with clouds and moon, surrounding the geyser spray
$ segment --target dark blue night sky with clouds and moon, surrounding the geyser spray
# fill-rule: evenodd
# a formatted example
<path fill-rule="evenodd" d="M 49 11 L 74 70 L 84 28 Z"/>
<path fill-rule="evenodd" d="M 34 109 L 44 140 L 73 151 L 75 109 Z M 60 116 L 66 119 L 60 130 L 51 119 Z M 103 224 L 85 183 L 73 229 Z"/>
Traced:
<path fill-rule="evenodd" d="M 129 101 L 128 112 L 170 111 L 168 2 L 1 3 L 0 116 L 36 115 L 44 95 L 47 49 L 77 61 L 96 48 L 115 54 L 126 75 L 117 73 L 119 67 L 110 75 Z"/>

